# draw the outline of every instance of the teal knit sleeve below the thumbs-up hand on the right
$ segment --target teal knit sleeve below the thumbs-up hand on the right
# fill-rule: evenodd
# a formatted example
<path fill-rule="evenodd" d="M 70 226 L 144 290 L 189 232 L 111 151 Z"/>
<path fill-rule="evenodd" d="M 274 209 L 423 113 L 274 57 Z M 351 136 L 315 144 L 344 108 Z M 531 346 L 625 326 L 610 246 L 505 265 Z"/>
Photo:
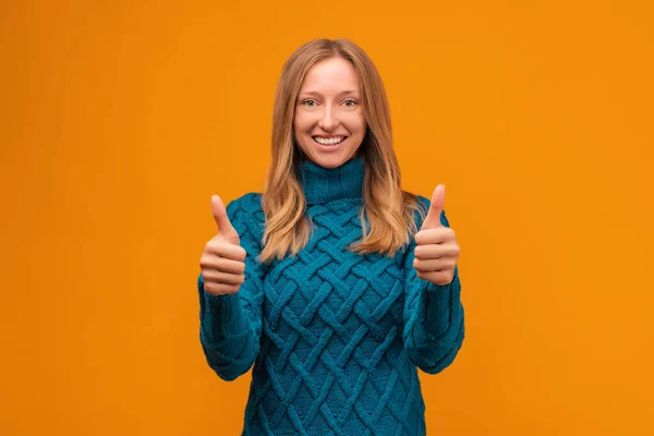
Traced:
<path fill-rule="evenodd" d="M 426 204 L 431 201 L 419 196 Z M 422 219 L 416 219 L 417 229 Z M 440 222 L 449 227 L 443 210 Z M 444 286 L 417 277 L 413 268 L 415 240 L 407 251 L 404 269 L 404 329 L 403 340 L 409 360 L 428 374 L 437 374 L 449 366 L 463 343 L 464 324 L 461 303 L 459 267 L 455 266 L 453 280 Z"/>

